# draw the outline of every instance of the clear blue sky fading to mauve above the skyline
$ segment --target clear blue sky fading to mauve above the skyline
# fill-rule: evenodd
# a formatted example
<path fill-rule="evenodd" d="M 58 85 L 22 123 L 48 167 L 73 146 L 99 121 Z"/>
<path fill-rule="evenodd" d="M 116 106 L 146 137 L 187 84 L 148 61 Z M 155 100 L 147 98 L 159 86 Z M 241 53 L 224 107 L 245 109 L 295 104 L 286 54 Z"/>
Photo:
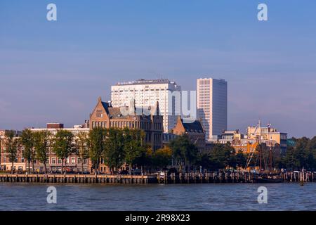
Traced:
<path fill-rule="evenodd" d="M 0 1 L 0 129 L 81 124 L 112 84 L 162 77 L 226 79 L 229 129 L 314 136 L 316 1 Z"/>

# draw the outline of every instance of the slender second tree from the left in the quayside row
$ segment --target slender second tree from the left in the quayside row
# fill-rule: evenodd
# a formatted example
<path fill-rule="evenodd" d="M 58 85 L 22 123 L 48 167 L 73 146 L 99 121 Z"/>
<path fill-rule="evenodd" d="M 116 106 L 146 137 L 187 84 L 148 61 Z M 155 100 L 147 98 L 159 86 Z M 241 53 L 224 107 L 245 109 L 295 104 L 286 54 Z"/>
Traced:
<path fill-rule="evenodd" d="M 20 143 L 24 147 L 23 157 L 27 160 L 27 168 L 28 172 L 30 173 L 30 164 L 32 162 L 32 167 L 34 169 L 34 160 L 36 157 L 34 151 L 34 135 L 31 130 L 25 129 L 22 131 L 20 136 Z"/>

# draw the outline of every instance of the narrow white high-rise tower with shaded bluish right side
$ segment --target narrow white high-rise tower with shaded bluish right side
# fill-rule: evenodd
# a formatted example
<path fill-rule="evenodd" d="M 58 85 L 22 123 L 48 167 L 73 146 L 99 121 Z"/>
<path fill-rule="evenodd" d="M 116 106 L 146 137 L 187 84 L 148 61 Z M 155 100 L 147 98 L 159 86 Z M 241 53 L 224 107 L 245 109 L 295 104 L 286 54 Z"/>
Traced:
<path fill-rule="evenodd" d="M 197 79 L 197 115 L 206 139 L 217 139 L 228 127 L 228 91 L 225 79 Z"/>

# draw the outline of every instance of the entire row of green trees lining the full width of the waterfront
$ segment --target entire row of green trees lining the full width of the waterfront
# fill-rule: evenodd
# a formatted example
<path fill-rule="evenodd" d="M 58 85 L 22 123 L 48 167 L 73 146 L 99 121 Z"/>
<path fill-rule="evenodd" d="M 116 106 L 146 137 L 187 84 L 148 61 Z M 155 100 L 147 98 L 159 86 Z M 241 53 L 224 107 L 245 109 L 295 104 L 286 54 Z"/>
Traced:
<path fill-rule="evenodd" d="M 13 163 L 17 157 L 19 146 L 23 146 L 22 156 L 27 160 L 28 168 L 39 160 L 47 171 L 46 162 L 50 151 L 61 160 L 62 171 L 67 158 L 76 154 L 81 160 L 81 171 L 84 171 L 84 160 L 90 159 L 95 172 L 100 171 L 100 164 L 105 163 L 112 171 L 119 169 L 124 163 L 131 168 L 150 167 L 162 169 L 168 165 L 177 165 L 180 170 L 204 169 L 217 170 L 225 168 L 244 168 L 249 155 L 236 153 L 227 144 L 215 144 L 209 152 L 199 152 L 187 135 L 178 136 L 170 141 L 169 146 L 153 151 L 145 143 L 145 133 L 140 129 L 103 129 L 95 128 L 88 133 L 74 136 L 70 131 L 60 129 L 53 136 L 49 131 L 22 131 L 17 138 L 15 131 L 6 131 L 4 141 L 8 159 Z M 272 167 L 281 169 L 310 169 L 316 168 L 316 136 L 313 139 L 291 139 L 292 146 L 288 146 L 286 153 L 281 153 L 279 146 L 272 149 Z M 249 166 L 258 165 L 258 149 L 261 148 L 263 165 L 268 168 L 271 157 L 270 148 L 261 144 L 257 153 L 251 158 Z M 0 152 L 1 154 L 1 152 Z M 271 162 L 270 161 L 270 162 Z M 1 155 L 0 155 L 1 163 Z M 30 171 L 29 171 L 30 172 Z"/>

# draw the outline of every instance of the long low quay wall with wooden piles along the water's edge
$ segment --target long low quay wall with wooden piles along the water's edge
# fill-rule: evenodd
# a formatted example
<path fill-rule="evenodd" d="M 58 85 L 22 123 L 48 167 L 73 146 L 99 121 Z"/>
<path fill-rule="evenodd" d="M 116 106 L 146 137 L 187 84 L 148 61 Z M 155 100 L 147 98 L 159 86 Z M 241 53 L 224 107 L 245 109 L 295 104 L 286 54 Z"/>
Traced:
<path fill-rule="evenodd" d="M 280 174 L 284 182 L 315 182 L 315 173 L 287 172 Z M 254 174 L 241 172 L 209 172 L 150 175 L 92 175 L 92 174 L 0 174 L 7 183 L 65 183 L 65 184 L 207 184 L 254 183 Z"/>

